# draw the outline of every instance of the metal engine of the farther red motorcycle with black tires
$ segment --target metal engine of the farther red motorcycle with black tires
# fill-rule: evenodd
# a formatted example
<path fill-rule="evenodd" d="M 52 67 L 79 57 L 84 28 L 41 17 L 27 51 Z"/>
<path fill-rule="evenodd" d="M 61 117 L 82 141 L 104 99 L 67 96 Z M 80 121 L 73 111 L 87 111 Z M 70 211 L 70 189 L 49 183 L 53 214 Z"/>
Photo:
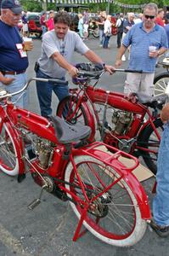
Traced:
<path fill-rule="evenodd" d="M 112 114 L 111 121 L 114 125 L 113 131 L 117 135 L 124 135 L 127 133 L 132 124 L 133 113 L 127 111 L 115 110 Z"/>

